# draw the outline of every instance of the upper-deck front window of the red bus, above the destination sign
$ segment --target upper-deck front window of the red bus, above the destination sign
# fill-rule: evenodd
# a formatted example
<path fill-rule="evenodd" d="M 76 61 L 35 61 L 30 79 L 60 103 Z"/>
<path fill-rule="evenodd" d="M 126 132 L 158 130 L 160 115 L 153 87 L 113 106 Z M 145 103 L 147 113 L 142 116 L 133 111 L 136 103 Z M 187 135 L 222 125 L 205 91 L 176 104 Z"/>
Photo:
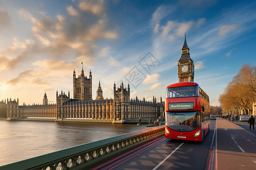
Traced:
<path fill-rule="evenodd" d="M 171 87 L 166 90 L 166 98 L 199 97 L 198 86 Z"/>

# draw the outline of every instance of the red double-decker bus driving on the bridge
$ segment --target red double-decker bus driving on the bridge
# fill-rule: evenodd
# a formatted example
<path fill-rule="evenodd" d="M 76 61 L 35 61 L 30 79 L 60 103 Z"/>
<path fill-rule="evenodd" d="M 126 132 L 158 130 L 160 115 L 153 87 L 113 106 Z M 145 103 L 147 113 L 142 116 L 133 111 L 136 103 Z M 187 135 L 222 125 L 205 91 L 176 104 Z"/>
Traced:
<path fill-rule="evenodd" d="M 168 139 L 203 141 L 210 129 L 209 96 L 197 83 L 168 86 L 164 112 Z"/>

